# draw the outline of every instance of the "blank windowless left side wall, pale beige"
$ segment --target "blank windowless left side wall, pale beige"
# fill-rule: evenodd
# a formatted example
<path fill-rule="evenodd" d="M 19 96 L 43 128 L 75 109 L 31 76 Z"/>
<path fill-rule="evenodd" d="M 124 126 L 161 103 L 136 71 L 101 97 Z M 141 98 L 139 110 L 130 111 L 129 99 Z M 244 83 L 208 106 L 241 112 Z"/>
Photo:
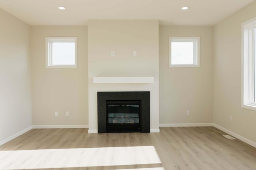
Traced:
<path fill-rule="evenodd" d="M 0 141 L 30 127 L 30 26 L 0 9 Z"/>

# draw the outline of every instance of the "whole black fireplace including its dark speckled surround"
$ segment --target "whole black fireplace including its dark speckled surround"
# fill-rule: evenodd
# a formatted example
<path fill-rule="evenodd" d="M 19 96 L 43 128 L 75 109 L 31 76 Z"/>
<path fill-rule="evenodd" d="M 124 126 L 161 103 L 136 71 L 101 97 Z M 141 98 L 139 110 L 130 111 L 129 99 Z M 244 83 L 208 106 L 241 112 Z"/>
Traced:
<path fill-rule="evenodd" d="M 150 132 L 149 92 L 98 92 L 98 133 Z"/>

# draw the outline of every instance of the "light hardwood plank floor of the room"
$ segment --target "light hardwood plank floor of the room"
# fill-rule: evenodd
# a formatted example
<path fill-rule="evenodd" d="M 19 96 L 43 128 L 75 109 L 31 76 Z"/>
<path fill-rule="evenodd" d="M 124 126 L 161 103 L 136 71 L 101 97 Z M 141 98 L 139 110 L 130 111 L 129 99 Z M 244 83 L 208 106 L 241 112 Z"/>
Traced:
<path fill-rule="evenodd" d="M 1 160 L 5 161 L 6 167 L 8 167 L 8 164 L 18 164 L 19 159 L 26 155 L 26 153 L 22 153 L 24 156 L 21 157 L 16 155 L 14 162 L 7 162 L 4 158 L 8 157 L 8 154 L 10 156 L 12 151 L 33 150 L 36 152 L 37 150 L 58 149 L 62 150 L 62 156 L 54 159 L 57 162 L 67 163 L 70 159 L 65 154 L 70 154 L 70 152 L 65 153 L 65 149 L 80 149 L 80 153 L 77 154 L 78 159 L 82 154 L 86 154 L 84 152 L 89 152 L 88 149 L 92 150 L 92 148 L 94 148 L 94 151 L 90 151 L 90 154 L 94 156 L 90 156 L 88 162 L 93 162 L 95 159 L 100 159 L 97 160 L 99 162 L 109 162 L 106 160 L 110 159 L 111 162 L 111 159 L 115 158 L 116 151 L 114 150 L 116 147 L 130 147 L 126 149 L 135 149 L 134 153 L 136 155 L 143 155 L 148 154 L 145 150 L 148 147 L 145 146 L 154 146 L 156 152 L 147 155 L 149 157 L 149 159 L 146 159 L 147 164 L 140 161 L 135 161 L 134 164 L 106 164 L 106 166 L 99 163 L 100 166 L 91 164 L 93 166 L 88 167 L 81 167 L 80 165 L 83 164 L 77 164 L 76 167 L 46 168 L 46 170 L 120 170 L 137 168 L 138 170 L 140 168 L 148 170 L 256 170 L 256 148 L 238 139 L 226 139 L 222 135 L 227 134 L 214 127 L 163 127 L 160 128 L 160 133 L 105 134 L 88 134 L 88 129 L 32 129 L 0 146 L 0 162 Z M 140 148 L 139 146 L 143 147 Z M 109 156 L 99 152 L 99 150 L 109 147 L 114 148 L 113 151 L 108 150 Z M 85 151 L 86 149 L 87 151 Z M 6 151 L 10 152 L 7 153 Z M 51 153 L 46 155 L 48 159 L 51 158 Z M 97 154 L 103 156 L 99 157 Z M 159 156 L 160 162 L 150 160 L 153 154 Z M 35 155 L 31 157 L 33 156 Z M 43 157 L 45 155 L 39 156 Z M 132 160 L 132 157 L 128 156 L 128 159 Z M 26 164 L 27 162 L 26 160 L 20 162 L 20 164 Z M 34 158 L 34 162 L 36 162 L 36 158 Z M 44 163 L 47 164 L 48 162 Z M 16 169 L 20 168 L 17 167 Z"/>

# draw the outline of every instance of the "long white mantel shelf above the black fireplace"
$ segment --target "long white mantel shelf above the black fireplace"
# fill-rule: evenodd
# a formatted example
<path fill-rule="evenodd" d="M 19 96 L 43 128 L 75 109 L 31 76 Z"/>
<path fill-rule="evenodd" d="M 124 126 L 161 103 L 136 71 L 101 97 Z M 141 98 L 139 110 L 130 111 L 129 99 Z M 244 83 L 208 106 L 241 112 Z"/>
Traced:
<path fill-rule="evenodd" d="M 93 83 L 154 83 L 154 77 L 94 77 Z"/>

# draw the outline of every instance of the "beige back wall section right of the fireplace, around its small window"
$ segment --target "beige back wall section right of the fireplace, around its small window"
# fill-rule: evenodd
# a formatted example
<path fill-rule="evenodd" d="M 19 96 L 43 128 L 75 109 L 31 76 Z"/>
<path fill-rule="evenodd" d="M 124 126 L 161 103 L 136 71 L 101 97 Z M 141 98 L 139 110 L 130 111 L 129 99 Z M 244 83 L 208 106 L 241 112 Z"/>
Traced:
<path fill-rule="evenodd" d="M 199 68 L 169 68 L 170 36 L 200 36 Z M 159 74 L 160 124 L 212 123 L 212 26 L 160 26 Z"/>

